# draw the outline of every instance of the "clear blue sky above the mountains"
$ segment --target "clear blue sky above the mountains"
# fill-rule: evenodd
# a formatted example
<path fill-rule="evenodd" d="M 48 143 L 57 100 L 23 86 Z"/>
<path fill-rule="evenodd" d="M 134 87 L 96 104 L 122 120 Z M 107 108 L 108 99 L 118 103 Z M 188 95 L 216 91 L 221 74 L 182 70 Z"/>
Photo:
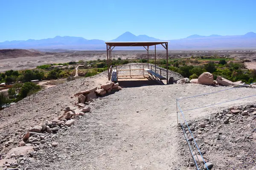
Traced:
<path fill-rule="evenodd" d="M 256 32 L 256 0 L 0 0 L 0 42 L 125 31 L 162 40 Z"/>

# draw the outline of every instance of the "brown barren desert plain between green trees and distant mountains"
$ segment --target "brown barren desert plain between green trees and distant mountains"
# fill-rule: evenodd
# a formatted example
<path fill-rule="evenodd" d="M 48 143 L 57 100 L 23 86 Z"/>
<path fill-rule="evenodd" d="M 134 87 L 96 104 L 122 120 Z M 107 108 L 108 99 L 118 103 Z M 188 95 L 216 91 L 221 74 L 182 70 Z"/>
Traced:
<path fill-rule="evenodd" d="M 26 54 L 26 53 L 25 53 Z M 24 53 L 20 54 L 20 57 L 15 54 L 15 56 L 6 56 L 0 58 L 0 71 L 22 70 L 27 68 L 35 68 L 38 65 L 49 64 L 49 63 L 64 63 L 70 61 L 79 60 L 96 60 L 96 59 L 106 59 L 106 51 L 67 51 L 67 52 L 41 52 L 38 56 L 25 57 Z M 43 55 L 44 54 L 44 55 Z M 34 55 L 34 53 L 32 54 Z M 43 56 L 41 56 L 43 55 Z M 255 56 L 255 52 L 204 52 L 204 51 L 169 51 L 169 57 L 171 58 L 190 58 L 192 55 L 197 56 L 214 56 L 218 55 L 224 57 L 230 55 L 237 59 L 249 59 L 250 56 Z M 16 57 L 16 58 L 12 58 Z M 141 59 L 147 58 L 146 51 L 112 51 L 112 58 L 122 59 Z M 149 57 L 154 57 L 154 51 L 149 51 Z M 7 58 L 7 59 L 6 59 Z M 166 58 L 165 51 L 157 51 L 157 58 Z M 255 58 L 255 57 L 254 57 Z M 253 57 L 251 58 L 253 59 Z"/>

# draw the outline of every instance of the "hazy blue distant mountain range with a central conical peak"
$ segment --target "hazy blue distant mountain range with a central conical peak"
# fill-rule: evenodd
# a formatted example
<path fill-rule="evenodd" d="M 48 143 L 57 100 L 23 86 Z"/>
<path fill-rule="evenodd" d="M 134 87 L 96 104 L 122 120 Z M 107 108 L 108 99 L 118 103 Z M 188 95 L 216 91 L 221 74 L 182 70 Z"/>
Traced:
<path fill-rule="evenodd" d="M 252 49 L 256 50 L 256 33 L 248 32 L 244 35 L 191 35 L 178 40 L 160 40 L 147 35 L 134 35 L 125 32 L 114 40 L 110 41 L 169 41 L 169 50 L 231 50 L 231 49 Z M 104 40 L 87 40 L 83 37 L 56 36 L 42 40 L 20 40 L 0 42 L 0 49 L 20 48 L 20 49 L 73 49 L 73 50 L 105 50 Z M 162 49 L 162 47 L 158 47 Z M 116 49 L 143 49 L 134 47 L 123 47 Z"/>

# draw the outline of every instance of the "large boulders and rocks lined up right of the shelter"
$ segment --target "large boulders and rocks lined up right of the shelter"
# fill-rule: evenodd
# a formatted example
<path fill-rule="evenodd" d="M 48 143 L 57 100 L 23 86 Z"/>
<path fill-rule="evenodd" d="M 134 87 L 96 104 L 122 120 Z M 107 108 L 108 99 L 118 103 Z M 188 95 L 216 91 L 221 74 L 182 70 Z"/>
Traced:
<path fill-rule="evenodd" d="M 247 88 L 256 88 L 256 83 L 247 85 L 246 83 L 243 83 L 242 81 L 232 82 L 228 79 L 224 79 L 223 77 L 217 76 L 217 79 L 213 79 L 213 75 L 209 72 L 202 73 L 198 79 L 191 79 L 184 78 L 177 80 L 177 84 L 183 84 L 183 83 L 197 83 L 202 85 L 224 85 L 229 87 L 247 87 Z"/>

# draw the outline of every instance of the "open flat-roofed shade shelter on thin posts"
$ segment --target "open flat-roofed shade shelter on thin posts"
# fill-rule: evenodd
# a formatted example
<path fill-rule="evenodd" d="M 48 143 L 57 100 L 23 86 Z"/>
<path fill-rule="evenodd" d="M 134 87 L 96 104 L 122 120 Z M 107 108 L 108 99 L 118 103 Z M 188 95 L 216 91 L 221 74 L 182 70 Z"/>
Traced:
<path fill-rule="evenodd" d="M 155 61 L 155 72 L 156 72 L 156 45 L 162 45 L 166 49 L 166 84 L 168 84 L 168 41 L 155 41 L 155 42 L 105 42 L 107 45 L 107 63 L 108 63 L 108 80 L 111 79 L 112 72 L 112 54 L 111 51 L 115 47 L 144 47 L 147 52 L 149 51 L 149 46 L 154 45 L 154 61 Z M 148 57 L 148 68 L 149 68 L 149 57 Z M 117 69 L 116 69 L 117 70 Z M 151 67 L 152 71 L 152 67 Z M 114 72 L 113 72 L 114 73 Z M 117 72 L 116 72 L 117 75 Z M 154 75 L 157 75 L 154 73 Z M 158 75 L 159 77 L 161 75 Z"/>

